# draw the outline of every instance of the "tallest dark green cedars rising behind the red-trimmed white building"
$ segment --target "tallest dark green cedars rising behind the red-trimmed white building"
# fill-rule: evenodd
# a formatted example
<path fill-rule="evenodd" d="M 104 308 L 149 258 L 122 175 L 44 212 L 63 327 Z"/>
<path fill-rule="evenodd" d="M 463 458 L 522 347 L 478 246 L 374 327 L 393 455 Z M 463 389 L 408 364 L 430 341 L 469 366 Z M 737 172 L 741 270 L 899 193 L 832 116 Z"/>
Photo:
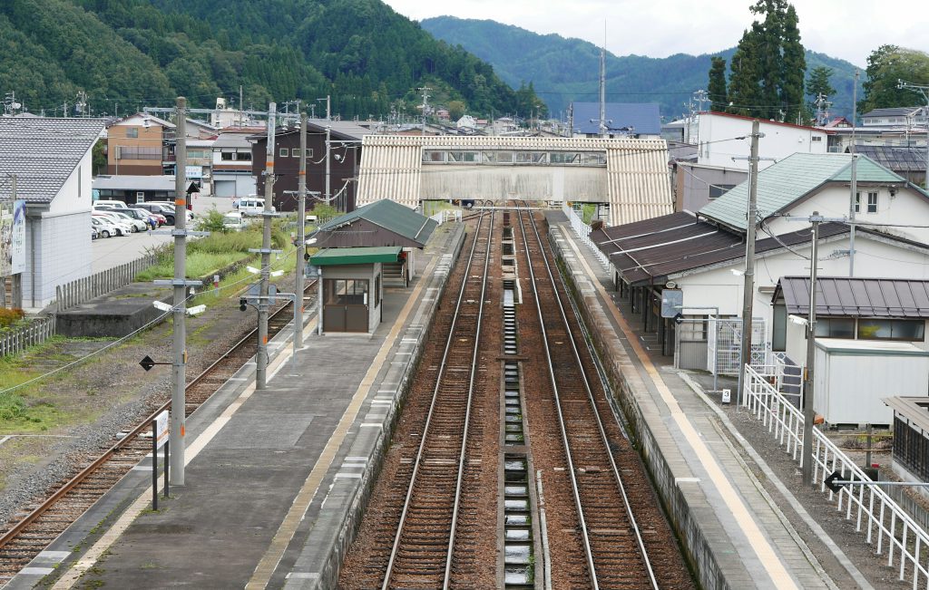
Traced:
<path fill-rule="evenodd" d="M 729 77 L 731 112 L 793 122 L 803 106 L 805 50 L 797 14 L 786 0 L 758 0 L 762 21 L 742 34 Z"/>

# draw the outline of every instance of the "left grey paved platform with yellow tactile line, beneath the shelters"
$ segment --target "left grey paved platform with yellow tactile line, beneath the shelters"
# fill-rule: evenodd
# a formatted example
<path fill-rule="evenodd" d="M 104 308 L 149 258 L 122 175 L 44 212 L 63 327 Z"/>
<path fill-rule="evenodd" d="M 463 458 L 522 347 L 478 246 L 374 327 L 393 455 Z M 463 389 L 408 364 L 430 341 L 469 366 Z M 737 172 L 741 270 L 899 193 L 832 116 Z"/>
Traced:
<path fill-rule="evenodd" d="M 185 485 L 151 510 L 145 459 L 7 588 L 334 587 L 463 240 L 437 229 L 373 334 L 319 336 L 313 318 L 294 369 L 282 330 L 266 389 L 253 361 L 188 418 Z"/>

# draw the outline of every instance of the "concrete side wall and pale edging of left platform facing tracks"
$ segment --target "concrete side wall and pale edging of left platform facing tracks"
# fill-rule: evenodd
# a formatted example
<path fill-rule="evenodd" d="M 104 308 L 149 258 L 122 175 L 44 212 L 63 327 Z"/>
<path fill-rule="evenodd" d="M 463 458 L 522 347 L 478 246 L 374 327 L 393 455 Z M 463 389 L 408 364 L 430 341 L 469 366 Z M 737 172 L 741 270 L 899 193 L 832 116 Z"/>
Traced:
<path fill-rule="evenodd" d="M 464 225 L 458 225 L 452 230 L 448 244 L 446 253 L 451 253 L 450 262 L 453 265 L 464 244 Z M 373 493 L 374 484 L 377 482 L 377 477 L 384 464 L 387 446 L 396 427 L 397 418 L 406 401 L 406 395 L 410 390 L 410 381 L 419 366 L 423 354 L 423 345 L 429 340 L 432 317 L 448 284 L 451 265 L 449 273 L 444 276 L 434 274 L 433 276 L 420 277 L 420 280 L 430 281 L 427 287 L 432 289 L 431 292 L 435 293 L 435 295 L 424 296 L 422 301 L 425 302 L 432 298 L 431 301 L 420 306 L 413 316 L 411 327 L 401 333 L 399 337 L 399 340 L 402 340 L 402 352 L 411 353 L 408 357 L 411 359 L 410 362 L 404 366 L 388 365 L 390 368 L 387 369 L 383 382 L 397 383 L 397 392 L 394 397 L 395 403 L 389 406 L 386 417 L 383 418 L 384 428 L 359 429 L 345 454 L 352 457 L 367 457 L 367 468 L 362 473 L 360 480 L 334 481 L 326 496 L 326 507 L 332 509 L 326 512 L 321 511 L 316 525 L 309 533 L 306 544 L 317 548 L 327 547 L 327 549 L 318 550 L 318 555 L 313 559 L 315 563 L 301 564 L 299 559 L 297 561 L 297 568 L 304 566 L 310 571 L 319 571 L 319 576 L 312 581 L 312 584 L 301 584 L 300 582 L 292 584 L 289 582 L 287 587 L 335 588 L 338 586 L 339 569 L 348 552 L 349 545 L 355 540 L 355 536 L 360 529 L 361 519 L 364 517 L 365 509 Z M 356 418 L 356 420 L 360 418 Z M 341 452 L 340 455 L 342 455 Z"/>

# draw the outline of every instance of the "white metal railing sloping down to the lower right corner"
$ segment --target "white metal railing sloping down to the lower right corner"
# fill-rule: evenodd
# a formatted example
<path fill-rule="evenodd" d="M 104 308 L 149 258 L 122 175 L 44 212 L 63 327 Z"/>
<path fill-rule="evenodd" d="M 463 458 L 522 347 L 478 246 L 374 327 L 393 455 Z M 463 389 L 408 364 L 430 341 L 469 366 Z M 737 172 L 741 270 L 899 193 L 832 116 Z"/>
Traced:
<path fill-rule="evenodd" d="M 765 375 L 746 366 L 745 371 L 744 404 L 802 466 L 803 413 L 771 384 L 777 381 L 774 370 Z M 843 480 L 871 480 L 819 430 L 813 430 L 813 437 L 813 481 L 819 491 L 836 501 L 846 520 L 855 519 L 857 532 L 867 535 L 867 543 L 874 546 L 877 555 L 887 556 L 887 566 L 898 569 L 900 580 L 909 577 L 914 589 L 921 581 L 929 587 L 929 533 L 879 486 L 846 485 L 839 492 L 828 490 L 825 481 L 833 471 L 841 473 Z"/>

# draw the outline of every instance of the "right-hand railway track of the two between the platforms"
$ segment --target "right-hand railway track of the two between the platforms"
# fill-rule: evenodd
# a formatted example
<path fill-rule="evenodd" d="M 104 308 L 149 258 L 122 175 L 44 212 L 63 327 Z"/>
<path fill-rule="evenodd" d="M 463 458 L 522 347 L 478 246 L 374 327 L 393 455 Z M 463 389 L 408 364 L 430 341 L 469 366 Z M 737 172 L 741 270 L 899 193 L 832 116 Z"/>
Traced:
<path fill-rule="evenodd" d="M 569 476 L 561 480 L 569 481 L 577 541 L 582 547 L 582 559 L 573 560 L 575 567 L 566 572 L 569 584 L 657 589 L 642 532 L 610 449 L 604 417 L 584 370 L 581 353 L 585 351 L 578 345 L 562 302 L 564 289 L 531 212 L 517 211 L 517 221 L 529 259 L 530 285 Z"/>

